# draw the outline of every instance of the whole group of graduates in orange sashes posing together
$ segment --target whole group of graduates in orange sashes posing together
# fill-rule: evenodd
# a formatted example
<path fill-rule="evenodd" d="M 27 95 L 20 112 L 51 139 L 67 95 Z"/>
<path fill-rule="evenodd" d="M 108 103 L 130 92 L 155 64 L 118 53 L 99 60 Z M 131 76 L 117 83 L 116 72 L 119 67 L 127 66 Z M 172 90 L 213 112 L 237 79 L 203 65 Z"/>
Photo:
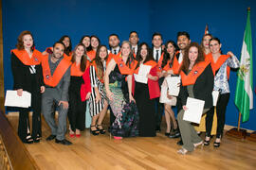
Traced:
<path fill-rule="evenodd" d="M 154 137 L 160 131 L 162 114 L 165 114 L 165 135 L 181 137 L 180 154 L 192 152 L 200 145 L 210 144 L 210 131 L 214 107 L 212 91 L 219 92 L 216 105 L 217 134 L 214 146 L 223 136 L 225 112 L 229 102 L 229 71 L 238 68 L 239 61 L 232 52 L 222 54 L 221 42 L 210 34 L 203 36 L 201 44 L 191 42 L 188 32 L 178 32 L 177 42 L 163 44 L 162 35 L 155 33 L 152 48 L 146 42 L 138 44 L 136 31 L 129 41 L 121 42 L 119 36 L 109 36 L 109 49 L 100 39 L 83 36 L 72 50 L 71 39 L 64 36 L 47 47 L 43 53 L 34 48 L 29 31 L 23 31 L 11 50 L 11 69 L 14 90 L 31 93 L 31 107 L 20 108 L 18 135 L 27 144 L 38 143 L 42 138 L 41 112 L 57 144 L 72 144 L 65 139 L 69 122 L 69 136 L 80 137 L 85 125 L 85 114 L 92 117 L 92 135 L 104 134 L 102 127 L 106 111 L 110 110 L 109 132 L 115 139 L 123 137 Z M 150 71 L 136 77 L 139 69 L 148 66 Z M 141 69 L 142 70 L 142 69 Z M 180 79 L 177 96 L 169 94 L 167 78 Z M 172 83 L 172 82 L 171 82 Z M 187 98 L 205 101 L 206 138 L 203 141 L 191 122 L 183 120 Z M 168 98 L 162 100 L 162 98 Z M 86 105 L 88 110 L 86 110 Z M 175 118 L 173 107 L 177 108 Z M 33 110 L 32 128 L 28 111 Z M 55 121 L 58 110 L 58 124 Z M 30 130 L 32 129 L 32 130 Z"/>

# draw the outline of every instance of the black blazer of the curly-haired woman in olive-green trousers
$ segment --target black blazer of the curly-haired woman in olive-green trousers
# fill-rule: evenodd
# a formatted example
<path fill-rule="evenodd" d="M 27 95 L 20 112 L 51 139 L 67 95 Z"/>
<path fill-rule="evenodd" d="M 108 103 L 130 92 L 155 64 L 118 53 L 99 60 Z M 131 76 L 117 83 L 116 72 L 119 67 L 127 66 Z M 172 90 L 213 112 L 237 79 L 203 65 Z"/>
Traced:
<path fill-rule="evenodd" d="M 204 72 L 197 77 L 192 89 L 194 98 L 205 101 L 205 109 L 210 109 L 212 107 L 211 93 L 213 91 L 213 84 L 214 76 L 209 64 Z M 179 97 L 181 98 L 182 106 L 186 105 L 188 96 L 187 86 L 182 86 L 181 84 Z"/>

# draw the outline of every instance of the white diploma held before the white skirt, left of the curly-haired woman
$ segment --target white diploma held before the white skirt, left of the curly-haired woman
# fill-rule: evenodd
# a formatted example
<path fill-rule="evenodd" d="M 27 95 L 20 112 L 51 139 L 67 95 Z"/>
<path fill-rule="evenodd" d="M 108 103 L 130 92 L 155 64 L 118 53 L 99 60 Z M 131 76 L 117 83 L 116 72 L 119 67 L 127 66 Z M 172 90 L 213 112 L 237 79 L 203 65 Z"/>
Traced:
<path fill-rule="evenodd" d="M 166 81 L 169 88 L 169 95 L 178 96 L 179 93 L 179 76 L 167 76 Z"/>

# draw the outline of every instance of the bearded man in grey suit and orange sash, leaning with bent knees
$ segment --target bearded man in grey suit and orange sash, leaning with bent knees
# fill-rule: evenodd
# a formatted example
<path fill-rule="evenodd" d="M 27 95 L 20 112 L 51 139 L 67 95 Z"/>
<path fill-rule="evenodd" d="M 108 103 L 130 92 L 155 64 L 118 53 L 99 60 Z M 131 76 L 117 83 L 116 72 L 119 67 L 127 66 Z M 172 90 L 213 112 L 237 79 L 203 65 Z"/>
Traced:
<path fill-rule="evenodd" d="M 51 128 L 51 135 L 46 141 L 55 139 L 57 144 L 72 144 L 64 138 L 66 130 L 66 115 L 68 110 L 68 88 L 70 82 L 70 65 L 64 59 L 64 43 L 55 42 L 53 53 L 44 56 L 42 68 L 46 92 L 42 95 L 42 112 L 46 123 Z M 58 108 L 58 125 L 55 122 L 55 110 Z"/>

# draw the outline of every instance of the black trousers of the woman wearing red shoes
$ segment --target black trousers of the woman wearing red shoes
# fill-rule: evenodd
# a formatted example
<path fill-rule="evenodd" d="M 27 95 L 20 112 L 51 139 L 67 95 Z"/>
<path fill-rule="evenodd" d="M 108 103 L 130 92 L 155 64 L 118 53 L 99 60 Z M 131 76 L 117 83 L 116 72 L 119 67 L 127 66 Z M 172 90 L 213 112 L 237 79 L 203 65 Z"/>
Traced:
<path fill-rule="evenodd" d="M 73 131 L 76 131 L 76 128 L 84 130 L 86 101 L 81 101 L 81 85 L 82 77 L 71 76 L 67 117 Z"/>

